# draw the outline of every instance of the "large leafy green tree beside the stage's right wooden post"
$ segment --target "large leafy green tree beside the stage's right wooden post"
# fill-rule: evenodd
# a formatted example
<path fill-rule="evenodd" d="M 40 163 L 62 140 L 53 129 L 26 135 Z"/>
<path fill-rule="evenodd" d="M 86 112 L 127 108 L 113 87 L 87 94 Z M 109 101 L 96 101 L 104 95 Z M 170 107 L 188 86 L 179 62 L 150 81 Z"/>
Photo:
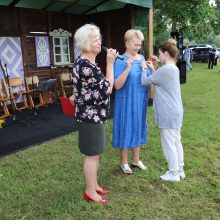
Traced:
<path fill-rule="evenodd" d="M 153 4 L 155 35 L 170 29 L 204 39 L 213 32 L 216 10 L 208 0 L 154 0 Z"/>

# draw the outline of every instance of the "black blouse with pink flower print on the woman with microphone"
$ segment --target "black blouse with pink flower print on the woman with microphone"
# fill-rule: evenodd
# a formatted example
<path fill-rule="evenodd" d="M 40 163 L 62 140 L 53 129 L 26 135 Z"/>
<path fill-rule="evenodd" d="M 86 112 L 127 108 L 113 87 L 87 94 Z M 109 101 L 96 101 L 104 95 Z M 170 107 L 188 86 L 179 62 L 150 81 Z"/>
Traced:
<path fill-rule="evenodd" d="M 73 88 L 76 96 L 76 120 L 102 124 L 109 110 L 110 83 L 99 67 L 78 57 L 73 65 Z"/>

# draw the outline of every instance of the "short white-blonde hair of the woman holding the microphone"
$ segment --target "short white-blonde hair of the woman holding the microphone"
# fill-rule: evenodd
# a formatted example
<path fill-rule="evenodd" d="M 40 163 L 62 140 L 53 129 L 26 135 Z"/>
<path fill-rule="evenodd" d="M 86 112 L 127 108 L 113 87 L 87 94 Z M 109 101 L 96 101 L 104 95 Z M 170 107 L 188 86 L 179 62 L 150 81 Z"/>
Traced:
<path fill-rule="evenodd" d="M 94 24 L 85 24 L 76 30 L 74 39 L 76 46 L 82 51 L 91 51 L 91 41 L 94 38 L 100 38 L 100 29 Z"/>

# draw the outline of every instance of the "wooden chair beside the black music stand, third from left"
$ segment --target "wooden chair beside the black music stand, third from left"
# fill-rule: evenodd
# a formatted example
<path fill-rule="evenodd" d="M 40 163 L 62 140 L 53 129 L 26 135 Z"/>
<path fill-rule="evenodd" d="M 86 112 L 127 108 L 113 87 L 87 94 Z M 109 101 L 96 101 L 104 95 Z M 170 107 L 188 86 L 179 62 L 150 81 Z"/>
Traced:
<path fill-rule="evenodd" d="M 43 100 L 43 94 L 41 92 L 34 91 L 39 84 L 38 76 L 33 76 L 33 78 L 31 76 L 25 77 L 25 83 L 26 83 L 27 91 L 30 93 L 30 97 L 29 97 L 30 106 L 34 108 L 45 105 L 45 102 Z M 37 104 L 35 104 L 35 98 L 38 99 Z"/>

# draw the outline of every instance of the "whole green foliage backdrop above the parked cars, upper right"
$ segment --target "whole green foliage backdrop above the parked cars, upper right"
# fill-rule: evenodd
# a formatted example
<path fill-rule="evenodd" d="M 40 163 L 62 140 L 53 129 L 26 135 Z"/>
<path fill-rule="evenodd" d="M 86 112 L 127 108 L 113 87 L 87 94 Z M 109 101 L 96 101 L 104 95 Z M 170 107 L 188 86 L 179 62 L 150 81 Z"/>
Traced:
<path fill-rule="evenodd" d="M 209 0 L 154 0 L 153 6 L 154 45 L 166 40 L 171 31 L 182 31 L 189 42 L 220 47 L 220 0 L 214 5 Z"/>

